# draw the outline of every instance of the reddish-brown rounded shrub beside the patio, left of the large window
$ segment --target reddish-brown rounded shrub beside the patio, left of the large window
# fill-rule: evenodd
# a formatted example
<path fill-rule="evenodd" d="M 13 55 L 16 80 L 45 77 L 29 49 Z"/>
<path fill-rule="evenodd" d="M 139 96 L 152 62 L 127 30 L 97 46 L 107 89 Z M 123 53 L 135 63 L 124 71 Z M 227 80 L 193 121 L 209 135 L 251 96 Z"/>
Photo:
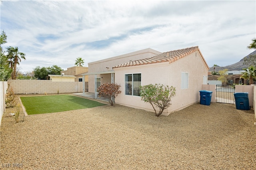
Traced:
<path fill-rule="evenodd" d="M 114 106 L 116 96 L 121 93 L 120 87 L 121 85 L 116 83 L 104 83 L 98 87 L 98 95 L 107 97 L 110 105 Z"/>

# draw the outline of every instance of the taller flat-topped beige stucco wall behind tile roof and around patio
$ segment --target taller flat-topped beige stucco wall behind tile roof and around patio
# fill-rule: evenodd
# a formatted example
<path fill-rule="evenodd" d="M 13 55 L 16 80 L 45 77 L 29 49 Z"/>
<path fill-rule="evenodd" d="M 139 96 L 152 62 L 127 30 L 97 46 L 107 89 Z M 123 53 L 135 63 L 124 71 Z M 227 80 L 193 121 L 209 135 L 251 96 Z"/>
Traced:
<path fill-rule="evenodd" d="M 161 54 L 161 52 L 148 48 L 148 49 L 142 49 L 139 51 L 134 51 L 132 53 L 118 55 L 116 57 L 94 61 L 94 62 L 88 63 L 88 73 L 112 71 L 112 67 L 116 65 L 127 63 L 130 60 L 153 57 L 158 54 Z M 97 75 L 97 78 L 101 78 L 101 84 L 111 82 L 111 74 Z M 94 75 L 88 75 L 89 92 L 94 92 L 94 79 L 95 79 Z"/>

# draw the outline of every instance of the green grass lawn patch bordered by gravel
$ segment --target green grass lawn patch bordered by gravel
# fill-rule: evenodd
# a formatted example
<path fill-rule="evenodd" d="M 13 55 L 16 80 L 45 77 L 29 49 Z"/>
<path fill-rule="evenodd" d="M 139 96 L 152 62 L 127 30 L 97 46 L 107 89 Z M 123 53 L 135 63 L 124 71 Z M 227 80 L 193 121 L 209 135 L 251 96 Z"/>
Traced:
<path fill-rule="evenodd" d="M 20 97 L 28 115 L 86 109 L 106 104 L 72 95 Z"/>

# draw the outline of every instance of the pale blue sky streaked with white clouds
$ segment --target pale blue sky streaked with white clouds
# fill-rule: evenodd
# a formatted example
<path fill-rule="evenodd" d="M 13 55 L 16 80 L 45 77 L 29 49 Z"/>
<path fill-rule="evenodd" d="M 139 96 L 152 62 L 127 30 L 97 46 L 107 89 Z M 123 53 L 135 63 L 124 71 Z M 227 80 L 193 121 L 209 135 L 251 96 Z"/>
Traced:
<path fill-rule="evenodd" d="M 152 48 L 199 46 L 209 67 L 231 65 L 253 52 L 256 1 L 6 1 L 0 2 L 3 47 L 26 54 L 22 73 L 36 66 L 73 67 Z M 120 63 L 121 64 L 121 63 Z"/>

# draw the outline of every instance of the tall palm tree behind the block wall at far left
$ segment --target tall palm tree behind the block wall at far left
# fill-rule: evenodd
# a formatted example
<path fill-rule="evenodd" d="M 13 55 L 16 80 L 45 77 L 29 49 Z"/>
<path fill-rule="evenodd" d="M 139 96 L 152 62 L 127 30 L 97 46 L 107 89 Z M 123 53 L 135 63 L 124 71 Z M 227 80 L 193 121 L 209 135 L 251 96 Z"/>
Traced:
<path fill-rule="evenodd" d="M 26 54 L 20 52 L 18 47 L 9 46 L 6 49 L 8 61 L 12 69 L 12 79 L 16 79 L 16 66 L 17 64 L 20 65 L 19 62 L 21 61 L 21 59 L 26 59 Z"/>

